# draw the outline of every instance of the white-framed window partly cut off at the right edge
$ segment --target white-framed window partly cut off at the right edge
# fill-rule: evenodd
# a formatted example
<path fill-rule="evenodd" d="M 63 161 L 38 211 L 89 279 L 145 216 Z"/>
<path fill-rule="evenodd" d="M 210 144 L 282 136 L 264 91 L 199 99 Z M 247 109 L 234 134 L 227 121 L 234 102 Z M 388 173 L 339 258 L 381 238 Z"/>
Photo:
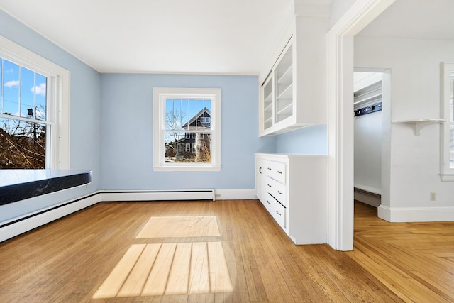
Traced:
<path fill-rule="evenodd" d="M 441 65 L 442 119 L 441 180 L 454 181 L 454 62 Z"/>

